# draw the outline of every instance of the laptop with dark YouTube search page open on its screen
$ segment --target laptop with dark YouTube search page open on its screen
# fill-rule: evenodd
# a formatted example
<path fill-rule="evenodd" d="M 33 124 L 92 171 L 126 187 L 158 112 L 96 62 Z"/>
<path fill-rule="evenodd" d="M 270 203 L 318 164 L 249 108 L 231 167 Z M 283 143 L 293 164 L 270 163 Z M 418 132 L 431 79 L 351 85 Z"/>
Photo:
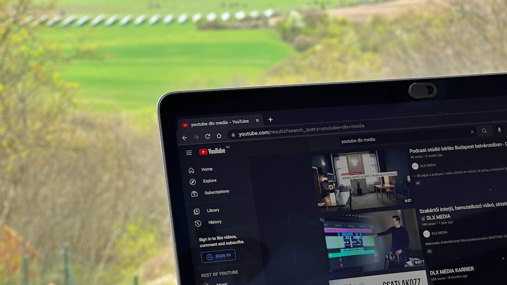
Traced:
<path fill-rule="evenodd" d="M 507 74 L 171 92 L 180 284 L 502 283 Z"/>

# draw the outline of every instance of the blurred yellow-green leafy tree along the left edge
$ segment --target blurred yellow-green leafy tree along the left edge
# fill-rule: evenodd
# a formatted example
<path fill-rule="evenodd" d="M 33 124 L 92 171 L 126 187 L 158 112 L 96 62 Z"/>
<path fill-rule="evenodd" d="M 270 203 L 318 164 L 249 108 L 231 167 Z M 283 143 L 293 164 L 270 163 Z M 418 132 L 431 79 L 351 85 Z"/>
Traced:
<path fill-rule="evenodd" d="M 73 85 L 55 75 L 63 58 L 35 36 L 26 0 L 0 0 L 0 231 L 22 193 L 27 161 L 56 151 Z M 0 234 L 0 237 L 2 234 Z"/>

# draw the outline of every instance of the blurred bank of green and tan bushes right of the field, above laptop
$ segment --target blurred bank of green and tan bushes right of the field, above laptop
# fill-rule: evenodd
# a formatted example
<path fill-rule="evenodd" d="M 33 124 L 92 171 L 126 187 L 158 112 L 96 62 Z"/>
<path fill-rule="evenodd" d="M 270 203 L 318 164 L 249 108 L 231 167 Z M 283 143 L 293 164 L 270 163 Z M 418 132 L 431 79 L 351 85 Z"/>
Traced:
<path fill-rule="evenodd" d="M 272 68 L 262 83 L 506 71 L 505 11 L 505 0 L 434 0 L 423 10 L 364 23 L 304 13 L 305 27 L 292 43 L 305 52 Z"/>

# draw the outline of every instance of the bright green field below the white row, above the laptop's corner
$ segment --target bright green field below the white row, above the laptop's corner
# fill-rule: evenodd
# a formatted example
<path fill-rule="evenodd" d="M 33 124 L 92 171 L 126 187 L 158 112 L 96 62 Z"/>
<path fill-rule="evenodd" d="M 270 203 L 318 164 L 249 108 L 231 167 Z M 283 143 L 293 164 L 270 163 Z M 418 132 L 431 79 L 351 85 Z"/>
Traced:
<path fill-rule="evenodd" d="M 79 84 L 95 110 L 153 109 L 169 91 L 255 85 L 267 69 L 293 53 L 273 30 L 205 30 L 192 24 L 43 28 L 64 50 L 84 38 L 97 59 L 61 71 Z M 74 43 L 73 43 L 74 42 Z"/>

